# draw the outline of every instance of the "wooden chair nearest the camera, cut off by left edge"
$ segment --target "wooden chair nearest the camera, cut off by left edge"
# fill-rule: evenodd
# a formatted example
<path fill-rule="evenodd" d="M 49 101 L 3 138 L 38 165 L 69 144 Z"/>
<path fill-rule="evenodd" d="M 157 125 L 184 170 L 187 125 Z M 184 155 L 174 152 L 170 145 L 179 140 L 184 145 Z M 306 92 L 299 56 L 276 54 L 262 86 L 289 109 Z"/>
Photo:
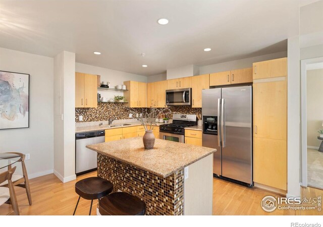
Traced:
<path fill-rule="evenodd" d="M 13 209 L 13 211 L 10 212 L 8 215 L 13 213 L 15 213 L 16 215 L 19 215 L 16 193 L 15 193 L 14 185 L 11 180 L 16 168 L 17 167 L 15 166 L 11 168 L 9 171 L 6 171 L 0 174 L 0 183 L 3 183 L 5 181 L 8 182 L 8 188 L 0 187 L 0 205 L 7 203 L 7 201 L 10 199 L 10 203 Z"/>

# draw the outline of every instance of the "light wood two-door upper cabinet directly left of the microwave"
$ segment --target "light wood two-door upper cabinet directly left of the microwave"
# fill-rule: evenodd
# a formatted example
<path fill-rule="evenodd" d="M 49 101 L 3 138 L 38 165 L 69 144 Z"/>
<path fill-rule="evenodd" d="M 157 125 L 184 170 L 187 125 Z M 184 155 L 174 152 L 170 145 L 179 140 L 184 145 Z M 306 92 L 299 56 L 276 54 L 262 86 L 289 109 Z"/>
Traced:
<path fill-rule="evenodd" d="M 165 107 L 167 80 L 147 84 L 147 107 Z"/>

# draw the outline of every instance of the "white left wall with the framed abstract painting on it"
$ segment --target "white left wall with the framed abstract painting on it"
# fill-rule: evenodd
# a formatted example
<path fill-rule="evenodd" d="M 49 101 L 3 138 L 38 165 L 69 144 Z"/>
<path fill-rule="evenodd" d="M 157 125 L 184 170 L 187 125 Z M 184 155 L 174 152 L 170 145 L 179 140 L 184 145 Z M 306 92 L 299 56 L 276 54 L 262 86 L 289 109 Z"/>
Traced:
<path fill-rule="evenodd" d="M 0 70 L 30 74 L 30 128 L 0 130 L 0 152 L 30 153 L 30 160 L 26 161 L 29 178 L 50 174 L 53 172 L 53 59 L 0 48 Z"/>

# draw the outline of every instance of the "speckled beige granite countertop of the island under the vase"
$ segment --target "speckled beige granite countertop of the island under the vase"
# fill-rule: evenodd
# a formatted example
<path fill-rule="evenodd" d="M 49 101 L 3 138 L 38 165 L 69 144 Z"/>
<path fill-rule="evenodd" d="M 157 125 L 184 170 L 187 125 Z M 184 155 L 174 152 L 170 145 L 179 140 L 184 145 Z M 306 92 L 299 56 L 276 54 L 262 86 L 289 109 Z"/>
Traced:
<path fill-rule="evenodd" d="M 142 137 L 86 146 L 98 153 L 166 178 L 216 152 L 216 149 L 155 139 L 154 148 L 144 149 Z"/>

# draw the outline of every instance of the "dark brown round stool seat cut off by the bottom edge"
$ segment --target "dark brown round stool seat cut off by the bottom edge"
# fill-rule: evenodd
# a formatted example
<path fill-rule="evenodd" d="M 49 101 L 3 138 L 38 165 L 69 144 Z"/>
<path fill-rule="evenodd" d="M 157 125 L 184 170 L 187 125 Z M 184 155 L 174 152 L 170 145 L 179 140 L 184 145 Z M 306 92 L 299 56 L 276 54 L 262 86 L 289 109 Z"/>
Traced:
<path fill-rule="evenodd" d="M 146 204 L 125 192 L 107 195 L 99 201 L 101 215 L 144 215 Z"/>

